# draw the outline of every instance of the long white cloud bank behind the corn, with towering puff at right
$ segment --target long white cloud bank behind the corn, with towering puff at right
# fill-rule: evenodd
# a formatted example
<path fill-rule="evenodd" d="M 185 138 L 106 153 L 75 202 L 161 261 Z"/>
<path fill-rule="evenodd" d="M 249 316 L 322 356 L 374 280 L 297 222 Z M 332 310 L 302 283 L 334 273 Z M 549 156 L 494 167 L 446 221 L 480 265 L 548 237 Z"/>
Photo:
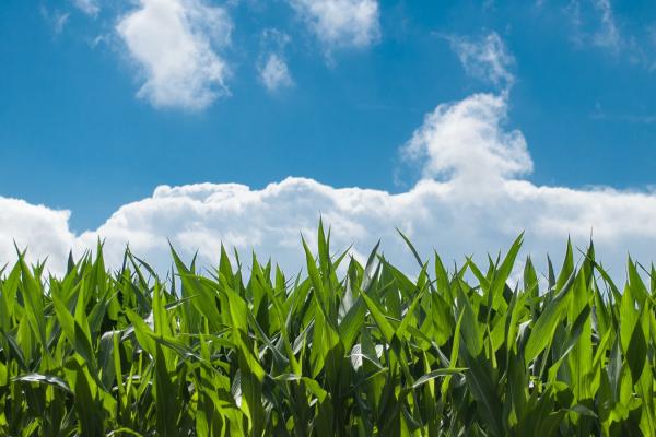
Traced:
<path fill-rule="evenodd" d="M 69 247 L 79 253 L 101 236 L 112 265 L 119 264 L 129 241 L 136 253 L 164 271 L 171 265 L 171 238 L 187 259 L 199 249 L 206 265 L 216 262 L 223 241 L 246 259 L 255 249 L 294 272 L 303 265 L 300 232 L 313 238 L 320 213 L 332 226 L 336 248 L 354 243 L 362 256 L 383 238 L 386 257 L 410 270 L 414 261 L 396 235 L 397 226 L 424 256 L 435 248 L 445 261 L 460 263 L 464 256 L 481 259 L 506 248 L 523 229 L 525 253 L 537 261 L 546 253 L 560 257 L 569 234 L 584 247 L 590 232 L 599 258 L 616 277 L 623 276 L 628 251 L 652 261 L 656 193 L 570 189 L 520 179 L 531 168 L 530 156 L 520 132 L 504 127 L 505 106 L 503 97 L 489 94 L 438 106 L 409 142 L 424 154 L 426 177 L 398 194 L 304 178 L 260 190 L 235 184 L 162 186 L 81 235 L 70 232 L 66 211 L 0 199 L 0 259 L 13 259 L 15 238 L 30 246 L 32 259 L 49 255 L 50 268 L 60 272 Z"/>

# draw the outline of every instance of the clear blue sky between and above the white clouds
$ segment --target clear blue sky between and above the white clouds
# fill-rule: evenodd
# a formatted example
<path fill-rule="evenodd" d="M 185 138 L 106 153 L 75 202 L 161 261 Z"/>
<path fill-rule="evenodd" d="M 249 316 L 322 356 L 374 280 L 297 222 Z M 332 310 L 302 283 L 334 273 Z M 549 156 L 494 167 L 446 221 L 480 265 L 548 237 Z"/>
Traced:
<path fill-rule="evenodd" d="M 531 180 L 654 182 L 649 1 L 611 4 L 619 39 L 606 45 L 595 42 L 609 32 L 601 2 L 382 1 L 379 37 L 337 48 L 321 44 L 284 1 L 208 2 L 225 8 L 233 23 L 221 49 L 232 70 L 230 96 L 196 110 L 136 96 L 139 66 L 115 27 L 139 5 L 106 3 L 97 15 L 72 1 L 8 0 L 0 8 L 0 193 L 70 209 L 79 231 L 160 184 L 263 187 L 293 175 L 398 192 L 417 179 L 398 149 L 424 114 L 491 88 L 464 72 L 447 38 L 489 32 L 515 58 L 509 123 L 530 145 Z M 257 64 L 262 33 L 273 28 L 289 37 L 280 51 L 293 85 L 271 93 Z"/>

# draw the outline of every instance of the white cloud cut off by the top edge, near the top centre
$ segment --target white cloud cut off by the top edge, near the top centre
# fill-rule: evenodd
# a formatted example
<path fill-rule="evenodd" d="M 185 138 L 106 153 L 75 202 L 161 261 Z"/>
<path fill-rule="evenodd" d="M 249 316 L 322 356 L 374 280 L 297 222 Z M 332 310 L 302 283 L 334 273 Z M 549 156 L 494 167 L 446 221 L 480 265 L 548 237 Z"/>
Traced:
<path fill-rule="evenodd" d="M 380 37 L 377 0 L 289 0 L 328 49 L 365 47 Z"/>

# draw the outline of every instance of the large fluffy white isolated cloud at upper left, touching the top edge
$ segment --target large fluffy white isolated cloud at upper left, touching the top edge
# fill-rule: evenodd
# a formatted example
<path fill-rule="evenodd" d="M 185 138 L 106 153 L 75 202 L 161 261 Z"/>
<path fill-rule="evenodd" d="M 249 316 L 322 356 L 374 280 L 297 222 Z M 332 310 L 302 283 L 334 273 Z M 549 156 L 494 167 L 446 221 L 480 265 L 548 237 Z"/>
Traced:
<path fill-rule="evenodd" d="M 141 0 L 116 29 L 144 83 L 138 96 L 155 107 L 202 109 L 229 93 L 226 61 L 232 22 L 201 0 Z"/>

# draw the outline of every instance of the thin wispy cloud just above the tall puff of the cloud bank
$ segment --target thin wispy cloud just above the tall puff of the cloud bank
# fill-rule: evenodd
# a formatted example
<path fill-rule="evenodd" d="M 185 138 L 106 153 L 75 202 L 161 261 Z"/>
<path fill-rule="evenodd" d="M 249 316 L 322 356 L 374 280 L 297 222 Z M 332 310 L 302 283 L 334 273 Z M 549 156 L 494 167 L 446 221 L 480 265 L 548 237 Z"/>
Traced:
<path fill-rule="evenodd" d="M 479 39 L 457 36 L 447 39 L 468 74 L 494 85 L 512 86 L 515 78 L 509 68 L 514 59 L 496 33 Z"/>

